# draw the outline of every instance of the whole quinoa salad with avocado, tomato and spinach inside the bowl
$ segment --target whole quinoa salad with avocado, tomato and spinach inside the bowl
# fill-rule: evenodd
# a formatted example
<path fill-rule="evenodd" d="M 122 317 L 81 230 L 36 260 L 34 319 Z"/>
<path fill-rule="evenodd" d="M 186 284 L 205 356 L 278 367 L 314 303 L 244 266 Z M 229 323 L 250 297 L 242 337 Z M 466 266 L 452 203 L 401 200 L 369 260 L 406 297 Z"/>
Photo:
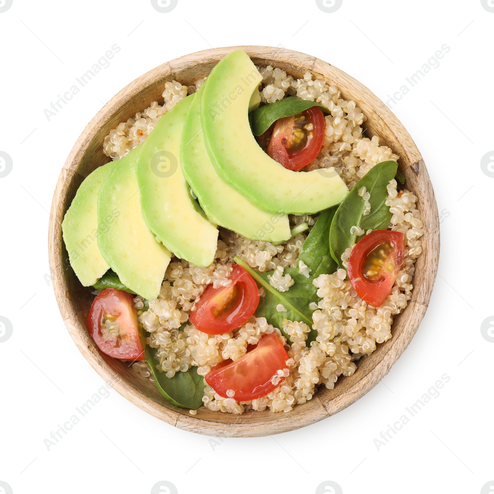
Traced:
<path fill-rule="evenodd" d="M 392 337 L 423 225 L 334 85 L 236 50 L 105 137 L 63 239 L 88 331 L 195 414 L 289 412 Z"/>

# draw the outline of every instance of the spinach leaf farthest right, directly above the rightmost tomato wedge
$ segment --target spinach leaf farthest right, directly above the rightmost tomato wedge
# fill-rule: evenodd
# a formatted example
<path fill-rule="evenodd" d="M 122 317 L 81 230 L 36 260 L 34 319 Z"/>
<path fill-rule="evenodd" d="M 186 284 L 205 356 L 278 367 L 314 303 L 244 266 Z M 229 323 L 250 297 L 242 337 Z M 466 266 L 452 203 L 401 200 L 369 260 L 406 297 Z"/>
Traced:
<path fill-rule="evenodd" d="M 352 226 L 358 226 L 362 230 L 386 230 L 391 219 L 389 207 L 386 206 L 388 197 L 387 185 L 396 175 L 398 163 L 396 161 L 384 161 L 373 166 L 353 187 L 350 193 L 343 199 L 331 222 L 329 231 L 329 246 L 331 256 L 342 267 L 341 254 L 355 244 L 356 233 L 350 233 Z M 369 203 L 371 211 L 364 216 L 364 199 L 359 196 L 359 190 L 366 187 L 371 194 Z"/>

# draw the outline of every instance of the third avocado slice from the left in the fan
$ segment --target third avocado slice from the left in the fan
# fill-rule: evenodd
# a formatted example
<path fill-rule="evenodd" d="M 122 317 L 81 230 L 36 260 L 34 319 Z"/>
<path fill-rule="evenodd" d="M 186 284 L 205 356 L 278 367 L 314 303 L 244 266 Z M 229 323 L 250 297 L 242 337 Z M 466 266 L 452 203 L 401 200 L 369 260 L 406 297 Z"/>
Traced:
<path fill-rule="evenodd" d="M 144 220 L 156 240 L 181 259 L 209 266 L 216 254 L 218 229 L 201 214 L 180 166 L 182 130 L 194 96 L 166 113 L 142 144 L 137 181 Z"/>

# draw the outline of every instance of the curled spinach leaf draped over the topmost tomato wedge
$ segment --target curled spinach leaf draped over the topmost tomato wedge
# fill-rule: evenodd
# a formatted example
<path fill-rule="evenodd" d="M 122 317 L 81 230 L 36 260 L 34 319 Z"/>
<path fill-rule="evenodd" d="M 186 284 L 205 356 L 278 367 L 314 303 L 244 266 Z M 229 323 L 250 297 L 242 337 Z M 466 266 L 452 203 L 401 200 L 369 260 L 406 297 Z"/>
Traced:
<path fill-rule="evenodd" d="M 320 103 L 307 101 L 297 96 L 287 96 L 286 98 L 260 106 L 249 114 L 250 127 L 254 135 L 262 135 L 278 119 L 291 117 L 303 112 L 313 106 L 319 107 L 323 112 L 331 112 Z"/>

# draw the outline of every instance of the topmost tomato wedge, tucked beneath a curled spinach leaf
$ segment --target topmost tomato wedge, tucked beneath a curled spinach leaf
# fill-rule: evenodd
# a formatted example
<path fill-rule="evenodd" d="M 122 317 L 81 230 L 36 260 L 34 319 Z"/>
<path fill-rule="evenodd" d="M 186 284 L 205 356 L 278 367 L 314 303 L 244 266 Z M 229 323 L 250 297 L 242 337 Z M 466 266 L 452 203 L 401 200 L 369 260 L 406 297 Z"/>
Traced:
<path fill-rule="evenodd" d="M 298 171 L 316 158 L 323 141 L 324 115 L 313 106 L 276 121 L 267 153 L 285 168 Z"/>

